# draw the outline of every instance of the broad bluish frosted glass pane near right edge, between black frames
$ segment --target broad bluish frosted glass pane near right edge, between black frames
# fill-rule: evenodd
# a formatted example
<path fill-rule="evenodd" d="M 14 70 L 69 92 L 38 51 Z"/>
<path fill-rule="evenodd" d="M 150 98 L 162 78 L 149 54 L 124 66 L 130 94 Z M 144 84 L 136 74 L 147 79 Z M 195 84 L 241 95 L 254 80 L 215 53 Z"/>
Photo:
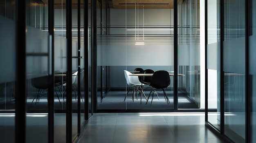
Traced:
<path fill-rule="evenodd" d="M 223 77 L 225 135 L 245 142 L 245 1 L 224 3 Z M 233 15 L 236 15 L 235 17 Z"/>

